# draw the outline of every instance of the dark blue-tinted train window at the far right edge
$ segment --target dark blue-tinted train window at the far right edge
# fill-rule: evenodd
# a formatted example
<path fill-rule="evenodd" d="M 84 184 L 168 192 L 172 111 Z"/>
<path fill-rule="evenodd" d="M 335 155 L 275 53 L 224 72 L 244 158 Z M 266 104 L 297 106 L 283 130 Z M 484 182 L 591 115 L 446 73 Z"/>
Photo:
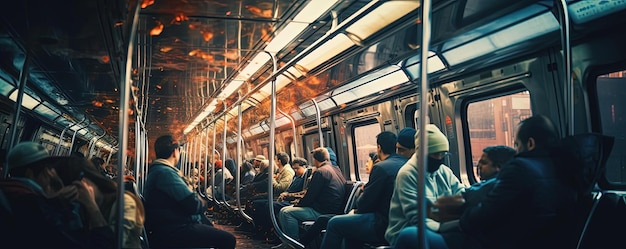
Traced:
<path fill-rule="evenodd" d="M 615 143 L 606 164 L 606 180 L 626 183 L 626 71 L 613 72 L 597 78 L 596 93 L 602 133 L 613 136 Z"/>

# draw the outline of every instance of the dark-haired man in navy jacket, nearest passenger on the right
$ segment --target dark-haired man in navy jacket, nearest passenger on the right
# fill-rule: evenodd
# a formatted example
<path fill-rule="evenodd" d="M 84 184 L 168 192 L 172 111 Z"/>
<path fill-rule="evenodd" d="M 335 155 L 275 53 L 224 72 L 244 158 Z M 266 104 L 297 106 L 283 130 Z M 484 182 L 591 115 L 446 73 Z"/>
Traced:
<path fill-rule="evenodd" d="M 521 121 L 517 155 L 502 167 L 480 204 L 465 209 L 460 219 L 464 240 L 444 237 L 448 247 L 557 248 L 571 241 L 566 226 L 573 219 L 576 191 L 559 164 L 559 141 L 546 116 Z"/>

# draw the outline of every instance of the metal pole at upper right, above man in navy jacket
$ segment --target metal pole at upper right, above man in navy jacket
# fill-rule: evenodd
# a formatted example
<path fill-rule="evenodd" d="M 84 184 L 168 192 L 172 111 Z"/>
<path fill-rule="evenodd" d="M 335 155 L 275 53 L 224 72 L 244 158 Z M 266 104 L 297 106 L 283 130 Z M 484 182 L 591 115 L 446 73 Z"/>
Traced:
<path fill-rule="evenodd" d="M 558 20 L 561 24 L 561 46 L 563 49 L 563 79 L 565 81 L 564 93 L 567 110 L 567 132 L 565 135 L 574 135 L 574 81 L 572 79 L 572 48 L 570 45 L 569 11 L 565 0 L 555 0 L 554 5 L 558 11 Z"/>

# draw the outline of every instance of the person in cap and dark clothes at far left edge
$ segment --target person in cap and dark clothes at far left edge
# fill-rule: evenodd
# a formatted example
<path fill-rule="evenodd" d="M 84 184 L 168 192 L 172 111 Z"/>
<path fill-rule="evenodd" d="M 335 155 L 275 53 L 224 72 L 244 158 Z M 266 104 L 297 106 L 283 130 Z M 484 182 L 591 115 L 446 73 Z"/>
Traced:
<path fill-rule="evenodd" d="M 78 177 L 63 184 L 44 146 L 21 142 L 8 155 L 11 178 L 0 189 L 11 212 L 0 224 L 2 243 L 24 248 L 107 248 L 113 231 L 89 190 Z M 84 211 L 81 217 L 81 209 Z M 88 223 L 83 223 L 85 218 Z M 33 235 L 36 237 L 34 238 Z"/>

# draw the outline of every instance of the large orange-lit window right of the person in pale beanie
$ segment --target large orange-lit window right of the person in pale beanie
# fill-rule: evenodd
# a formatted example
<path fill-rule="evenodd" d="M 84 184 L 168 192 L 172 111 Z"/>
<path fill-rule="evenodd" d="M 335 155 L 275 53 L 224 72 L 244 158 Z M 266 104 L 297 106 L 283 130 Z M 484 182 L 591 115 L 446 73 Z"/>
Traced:
<path fill-rule="evenodd" d="M 480 178 L 474 166 L 480 160 L 483 149 L 494 145 L 512 148 L 516 125 L 531 114 L 528 91 L 476 101 L 467 106 L 467 128 L 474 179 Z"/>

